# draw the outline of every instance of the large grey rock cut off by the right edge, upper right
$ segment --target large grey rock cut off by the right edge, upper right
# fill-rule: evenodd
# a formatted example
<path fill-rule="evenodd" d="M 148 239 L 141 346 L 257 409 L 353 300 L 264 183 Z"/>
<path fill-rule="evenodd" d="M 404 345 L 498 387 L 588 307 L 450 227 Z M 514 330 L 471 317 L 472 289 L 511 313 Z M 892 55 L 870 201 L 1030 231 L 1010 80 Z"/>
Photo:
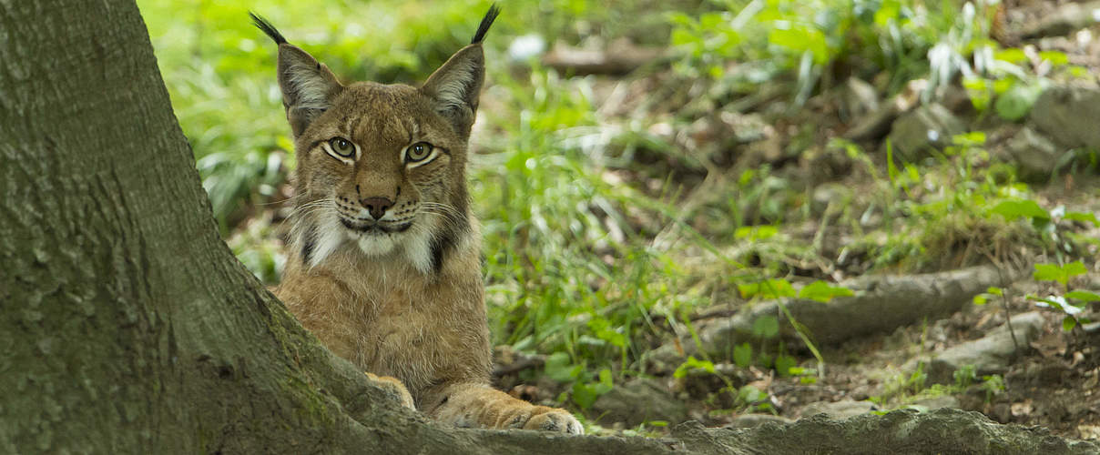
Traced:
<path fill-rule="evenodd" d="M 1100 89 L 1052 87 L 1032 107 L 1030 120 L 1056 143 L 1066 147 L 1100 148 Z"/>

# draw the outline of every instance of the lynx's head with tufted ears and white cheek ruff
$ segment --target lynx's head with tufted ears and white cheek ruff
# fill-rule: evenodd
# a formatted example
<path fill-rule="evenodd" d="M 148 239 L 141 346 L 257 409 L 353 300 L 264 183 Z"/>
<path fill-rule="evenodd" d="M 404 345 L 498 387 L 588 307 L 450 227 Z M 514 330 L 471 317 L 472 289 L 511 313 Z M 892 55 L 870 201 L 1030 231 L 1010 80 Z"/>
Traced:
<path fill-rule="evenodd" d="M 358 248 L 378 260 L 403 256 L 431 274 L 469 235 L 466 143 L 485 74 L 481 41 L 498 12 L 490 8 L 471 44 L 419 88 L 342 85 L 252 15 L 278 44 L 298 159 L 292 241 L 307 267 Z"/>

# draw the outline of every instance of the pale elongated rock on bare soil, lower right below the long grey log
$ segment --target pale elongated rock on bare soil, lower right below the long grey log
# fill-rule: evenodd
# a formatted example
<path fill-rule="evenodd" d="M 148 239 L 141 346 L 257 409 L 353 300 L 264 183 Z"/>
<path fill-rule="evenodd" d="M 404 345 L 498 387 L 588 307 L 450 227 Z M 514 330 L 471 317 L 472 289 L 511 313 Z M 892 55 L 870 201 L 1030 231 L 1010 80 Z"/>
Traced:
<path fill-rule="evenodd" d="M 1028 347 L 1045 322 L 1043 314 L 1035 311 L 1013 315 L 1012 326 L 1015 329 L 1019 346 L 1013 343 L 1008 324 L 1004 324 L 982 339 L 948 347 L 928 360 L 924 371 L 928 375 L 928 380 L 936 384 L 954 382 L 955 371 L 967 365 L 974 365 L 979 376 L 1004 374 L 1013 357 Z M 909 366 L 915 368 L 913 363 Z"/>

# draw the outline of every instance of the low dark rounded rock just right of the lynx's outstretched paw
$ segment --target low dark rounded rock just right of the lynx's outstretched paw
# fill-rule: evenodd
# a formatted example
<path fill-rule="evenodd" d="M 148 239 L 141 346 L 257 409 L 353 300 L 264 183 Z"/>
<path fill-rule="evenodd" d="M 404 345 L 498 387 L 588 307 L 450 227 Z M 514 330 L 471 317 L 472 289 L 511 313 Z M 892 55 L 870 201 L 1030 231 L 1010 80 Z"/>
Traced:
<path fill-rule="evenodd" d="M 610 391 L 596 399 L 590 411 L 590 414 L 601 417 L 601 424 L 623 422 L 637 425 L 650 420 L 674 424 L 688 419 L 688 403 L 661 382 L 648 378 L 616 384 Z"/>

